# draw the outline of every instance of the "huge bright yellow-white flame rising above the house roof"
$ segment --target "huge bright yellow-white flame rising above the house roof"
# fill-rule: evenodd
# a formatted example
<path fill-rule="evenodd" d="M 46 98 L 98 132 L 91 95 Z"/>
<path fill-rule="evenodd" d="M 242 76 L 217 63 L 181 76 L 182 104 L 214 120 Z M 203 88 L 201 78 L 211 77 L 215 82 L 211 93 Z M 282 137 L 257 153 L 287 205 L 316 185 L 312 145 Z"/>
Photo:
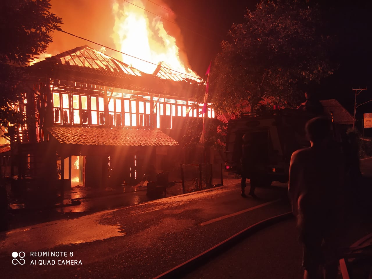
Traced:
<path fill-rule="evenodd" d="M 176 39 L 164 29 L 161 18 L 145 11 L 146 7 L 142 0 L 131 0 L 131 3 L 125 1 L 118 3 L 116 0 L 113 4 L 115 16 L 113 41 L 116 48 L 122 52 L 155 65 L 124 54 L 123 62 L 152 74 L 157 64 L 164 61 L 172 70 L 199 77 L 180 60 Z"/>

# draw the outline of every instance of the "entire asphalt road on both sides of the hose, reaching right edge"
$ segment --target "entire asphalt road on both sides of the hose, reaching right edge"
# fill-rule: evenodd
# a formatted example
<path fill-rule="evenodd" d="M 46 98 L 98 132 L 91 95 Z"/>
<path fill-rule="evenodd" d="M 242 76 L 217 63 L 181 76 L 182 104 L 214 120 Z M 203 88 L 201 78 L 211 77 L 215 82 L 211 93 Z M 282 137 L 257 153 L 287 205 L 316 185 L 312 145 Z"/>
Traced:
<path fill-rule="evenodd" d="M 362 172 L 372 174 L 372 160 L 361 163 Z M 244 228 L 290 210 L 286 185 L 258 188 L 259 199 L 239 193 L 238 185 L 230 185 L 3 232 L 2 278 L 154 278 Z M 368 207 L 360 206 L 353 216 L 346 247 L 371 233 L 372 222 L 361 218 L 371 219 L 368 197 L 360 197 Z M 296 238 L 294 220 L 280 222 L 185 278 L 301 278 Z"/>

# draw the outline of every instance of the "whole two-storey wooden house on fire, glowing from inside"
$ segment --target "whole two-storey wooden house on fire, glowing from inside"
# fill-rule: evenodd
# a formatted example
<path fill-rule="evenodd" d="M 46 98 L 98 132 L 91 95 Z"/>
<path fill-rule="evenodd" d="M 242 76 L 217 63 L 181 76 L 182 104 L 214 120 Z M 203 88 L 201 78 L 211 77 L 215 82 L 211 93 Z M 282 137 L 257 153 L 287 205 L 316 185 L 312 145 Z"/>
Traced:
<path fill-rule="evenodd" d="M 147 167 L 165 170 L 172 156 L 180 159 L 183 122 L 202 117 L 190 100 L 202 80 L 161 64 L 145 74 L 85 45 L 28 70 L 20 110 L 33 121 L 9 133 L 16 182 L 135 184 Z"/>

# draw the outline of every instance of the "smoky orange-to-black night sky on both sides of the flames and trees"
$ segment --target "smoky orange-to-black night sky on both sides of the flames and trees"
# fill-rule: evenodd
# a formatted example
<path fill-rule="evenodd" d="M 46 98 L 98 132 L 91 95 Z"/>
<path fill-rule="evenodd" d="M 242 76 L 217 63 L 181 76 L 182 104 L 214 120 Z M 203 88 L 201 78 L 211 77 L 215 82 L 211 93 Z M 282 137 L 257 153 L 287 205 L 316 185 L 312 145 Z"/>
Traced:
<path fill-rule="evenodd" d="M 62 17 L 64 21 L 62 28 L 65 31 L 113 47 L 110 38 L 112 30 L 109 30 L 113 26 L 110 2 L 112 1 L 51 0 L 52 11 Z M 166 10 L 151 3 L 162 5 L 160 0 L 143 2 L 155 13 L 162 15 L 167 13 Z M 254 9 L 257 0 L 163 0 L 163 2 L 174 11 L 173 15 L 168 13 L 168 16 L 180 29 L 175 32 L 183 37 L 179 41 L 180 50 L 186 53 L 191 69 L 203 77 L 209 62 L 220 51 L 220 42 L 227 38 L 232 24 L 242 22 L 247 7 Z M 322 80 L 321 84 L 315 84 L 312 90 L 319 94 L 320 99 L 336 98 L 353 113 L 352 88 L 368 88 L 357 97 L 357 103 L 372 99 L 370 54 L 372 1 L 318 0 L 318 2 L 325 21 L 324 30 L 336 36 L 337 49 L 330 53 L 330 57 L 337 63 L 338 68 L 332 76 Z M 177 26 L 170 22 L 164 22 L 164 26 L 169 28 L 171 35 L 173 35 L 171 29 L 177 29 Z M 67 36 L 62 36 L 58 32 L 55 34 L 54 43 L 50 48 L 53 55 L 84 44 L 99 48 L 89 42 Z M 69 41 L 69 44 L 66 44 L 66 41 Z M 108 52 L 108 55 L 113 54 Z M 363 112 L 372 112 L 372 102 L 371 105 L 360 106 L 357 115 Z"/>

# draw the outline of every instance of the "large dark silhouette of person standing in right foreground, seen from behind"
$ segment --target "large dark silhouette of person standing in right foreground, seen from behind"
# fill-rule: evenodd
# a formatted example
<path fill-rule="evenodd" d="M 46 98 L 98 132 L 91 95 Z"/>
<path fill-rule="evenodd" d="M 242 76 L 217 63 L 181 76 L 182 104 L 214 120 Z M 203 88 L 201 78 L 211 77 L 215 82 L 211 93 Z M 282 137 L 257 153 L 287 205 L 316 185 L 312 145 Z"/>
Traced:
<path fill-rule="evenodd" d="M 321 278 L 321 268 L 324 279 L 336 279 L 344 159 L 331 139 L 328 119 L 310 119 L 305 130 L 311 147 L 292 154 L 288 185 L 303 247 L 304 279 Z"/>

